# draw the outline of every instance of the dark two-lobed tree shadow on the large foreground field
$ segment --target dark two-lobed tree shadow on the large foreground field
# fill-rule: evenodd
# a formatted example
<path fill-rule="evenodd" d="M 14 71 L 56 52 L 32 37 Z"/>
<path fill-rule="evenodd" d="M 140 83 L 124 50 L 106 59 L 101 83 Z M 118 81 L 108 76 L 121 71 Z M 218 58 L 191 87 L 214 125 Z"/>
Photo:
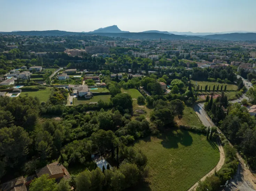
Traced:
<path fill-rule="evenodd" d="M 161 136 L 161 144 L 163 147 L 171 149 L 171 148 L 178 148 L 178 143 L 184 146 L 190 146 L 193 142 L 192 136 L 189 134 L 188 131 L 184 130 L 173 130 L 168 132 L 165 135 Z"/>

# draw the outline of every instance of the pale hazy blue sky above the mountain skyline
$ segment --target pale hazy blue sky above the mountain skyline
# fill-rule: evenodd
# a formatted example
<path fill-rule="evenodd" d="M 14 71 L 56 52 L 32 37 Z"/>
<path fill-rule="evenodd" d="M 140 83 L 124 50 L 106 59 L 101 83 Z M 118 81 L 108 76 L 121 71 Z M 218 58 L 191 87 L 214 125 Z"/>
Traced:
<path fill-rule="evenodd" d="M 0 31 L 256 31 L 256 0 L 0 0 Z"/>

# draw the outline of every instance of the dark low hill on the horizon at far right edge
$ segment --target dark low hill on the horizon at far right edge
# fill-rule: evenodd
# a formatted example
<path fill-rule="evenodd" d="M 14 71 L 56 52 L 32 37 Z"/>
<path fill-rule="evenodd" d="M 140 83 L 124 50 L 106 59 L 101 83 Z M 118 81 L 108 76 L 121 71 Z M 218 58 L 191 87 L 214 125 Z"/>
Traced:
<path fill-rule="evenodd" d="M 256 33 L 231 33 L 231 34 L 214 34 L 207 35 L 203 38 L 214 40 L 231 40 L 231 41 L 255 41 Z"/>

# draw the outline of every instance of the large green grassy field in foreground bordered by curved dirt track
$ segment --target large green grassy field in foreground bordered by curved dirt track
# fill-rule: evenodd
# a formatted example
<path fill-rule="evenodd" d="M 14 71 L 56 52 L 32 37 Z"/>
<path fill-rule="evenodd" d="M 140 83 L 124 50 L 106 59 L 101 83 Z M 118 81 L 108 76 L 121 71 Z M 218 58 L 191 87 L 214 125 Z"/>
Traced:
<path fill-rule="evenodd" d="M 134 144 L 148 157 L 146 183 L 130 190 L 187 191 L 213 169 L 220 158 L 214 142 L 185 130 L 168 130 L 162 136 L 145 138 Z"/>

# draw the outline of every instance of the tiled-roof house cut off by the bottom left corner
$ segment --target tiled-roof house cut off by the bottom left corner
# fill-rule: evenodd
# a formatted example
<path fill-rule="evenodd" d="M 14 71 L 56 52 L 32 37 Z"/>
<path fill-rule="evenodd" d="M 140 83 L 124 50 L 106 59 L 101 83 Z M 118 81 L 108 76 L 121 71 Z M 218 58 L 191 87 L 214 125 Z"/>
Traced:
<path fill-rule="evenodd" d="M 0 185 L 1 191 L 27 191 L 23 176 L 10 180 Z"/>

